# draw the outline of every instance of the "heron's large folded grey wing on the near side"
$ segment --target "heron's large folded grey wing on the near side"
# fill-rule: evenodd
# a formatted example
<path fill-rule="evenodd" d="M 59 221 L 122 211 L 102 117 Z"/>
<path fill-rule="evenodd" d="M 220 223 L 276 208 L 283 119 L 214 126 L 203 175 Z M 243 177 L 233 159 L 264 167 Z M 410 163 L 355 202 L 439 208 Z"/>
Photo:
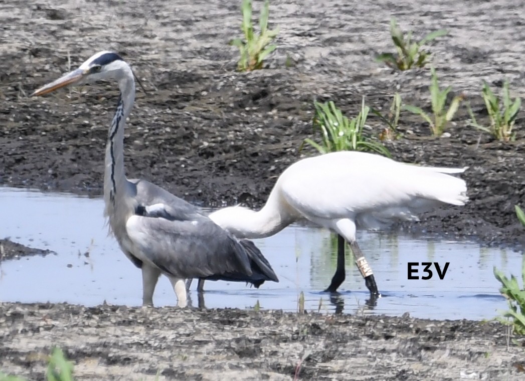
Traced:
<path fill-rule="evenodd" d="M 232 273 L 251 276 L 245 250 L 235 237 L 209 219 L 134 215 L 128 219 L 126 229 L 136 249 L 134 255 L 174 277 L 207 278 Z"/>

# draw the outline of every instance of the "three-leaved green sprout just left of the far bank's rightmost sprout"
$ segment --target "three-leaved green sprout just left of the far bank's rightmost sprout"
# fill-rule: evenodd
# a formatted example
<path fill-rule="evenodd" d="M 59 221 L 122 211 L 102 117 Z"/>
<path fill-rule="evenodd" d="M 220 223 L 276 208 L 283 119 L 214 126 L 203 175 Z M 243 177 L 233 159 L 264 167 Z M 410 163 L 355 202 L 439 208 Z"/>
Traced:
<path fill-rule="evenodd" d="M 461 104 L 461 101 L 463 101 L 463 95 L 454 97 L 447 109 L 445 107 L 445 103 L 447 101 L 447 95 L 452 90 L 452 88 L 448 86 L 446 89 L 440 90 L 439 83 L 437 81 L 436 69 L 431 68 L 430 72 L 432 73 L 432 78 L 430 79 L 429 90 L 430 101 L 432 102 L 433 118 L 419 107 L 405 104 L 403 108 L 413 112 L 414 114 L 421 115 L 423 119 L 430 125 L 432 135 L 440 136 L 446 130 L 448 122 L 454 118 L 454 115 L 458 111 L 459 105 Z"/>

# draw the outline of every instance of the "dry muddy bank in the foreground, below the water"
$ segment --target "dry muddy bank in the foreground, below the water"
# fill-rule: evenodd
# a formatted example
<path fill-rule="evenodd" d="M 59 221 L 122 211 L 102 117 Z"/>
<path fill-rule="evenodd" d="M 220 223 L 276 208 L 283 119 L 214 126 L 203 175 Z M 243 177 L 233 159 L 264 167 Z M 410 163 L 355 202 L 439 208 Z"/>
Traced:
<path fill-rule="evenodd" d="M 279 311 L 0 305 L 0 364 L 42 379 L 52 345 L 77 380 L 518 380 L 499 323 Z M 301 362 L 301 359 L 302 362 Z"/>

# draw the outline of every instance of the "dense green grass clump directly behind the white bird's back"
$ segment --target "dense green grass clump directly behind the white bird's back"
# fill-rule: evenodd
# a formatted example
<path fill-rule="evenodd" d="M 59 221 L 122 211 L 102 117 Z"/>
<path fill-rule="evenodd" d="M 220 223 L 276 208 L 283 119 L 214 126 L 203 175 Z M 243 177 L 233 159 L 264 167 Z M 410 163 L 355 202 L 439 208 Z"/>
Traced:
<path fill-rule="evenodd" d="M 363 135 L 370 108 L 361 102 L 361 111 L 356 118 L 349 120 L 341 110 L 330 101 L 327 103 L 314 102 L 316 115 L 313 118 L 314 132 L 319 129 L 322 135 L 322 143 L 316 143 L 311 139 L 305 139 L 304 143 L 313 146 L 320 153 L 336 151 L 373 151 L 390 157 L 386 147 Z M 302 147 L 302 145 L 301 145 Z"/>

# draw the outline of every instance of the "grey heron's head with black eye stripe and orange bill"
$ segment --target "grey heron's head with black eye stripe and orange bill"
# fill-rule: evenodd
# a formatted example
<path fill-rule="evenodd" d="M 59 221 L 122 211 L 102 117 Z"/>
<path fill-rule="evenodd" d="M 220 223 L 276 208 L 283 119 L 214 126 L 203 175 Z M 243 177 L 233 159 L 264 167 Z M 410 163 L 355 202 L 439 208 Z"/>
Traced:
<path fill-rule="evenodd" d="M 65 86 L 79 86 L 98 80 L 120 80 L 123 72 L 127 70 L 131 71 L 128 64 L 117 53 L 100 51 L 80 65 L 78 69 L 35 90 L 31 97 L 43 96 Z"/>

